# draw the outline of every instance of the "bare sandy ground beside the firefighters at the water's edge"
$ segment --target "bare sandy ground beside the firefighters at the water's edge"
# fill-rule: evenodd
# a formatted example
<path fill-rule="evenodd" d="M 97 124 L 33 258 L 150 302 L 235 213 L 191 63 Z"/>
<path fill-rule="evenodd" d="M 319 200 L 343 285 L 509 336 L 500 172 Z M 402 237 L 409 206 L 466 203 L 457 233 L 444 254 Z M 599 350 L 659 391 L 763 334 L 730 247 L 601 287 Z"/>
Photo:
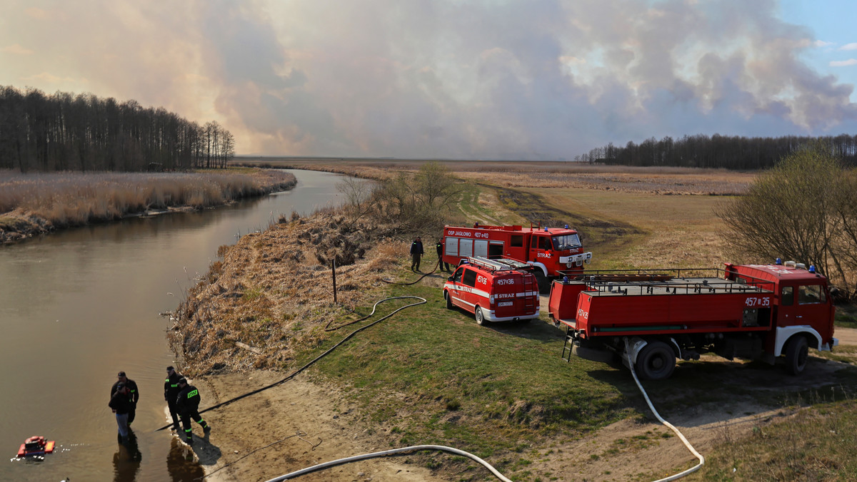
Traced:
<path fill-rule="evenodd" d="M 274 372 L 231 373 L 198 380 L 196 386 L 201 390 L 203 405 L 213 405 L 282 377 Z M 213 431 L 207 439 L 196 438 L 201 430 L 195 425 L 193 449 L 206 473 L 212 474 L 207 480 L 267 480 L 324 461 L 393 449 L 385 441 L 385 433 L 374 432 L 358 421 L 357 409 L 345 403 L 337 390 L 301 377 L 203 417 L 212 424 Z M 284 438 L 283 442 L 261 449 Z M 241 458 L 245 455 L 249 456 Z M 445 480 L 409 460 L 408 455 L 403 455 L 358 461 L 300 479 Z"/>

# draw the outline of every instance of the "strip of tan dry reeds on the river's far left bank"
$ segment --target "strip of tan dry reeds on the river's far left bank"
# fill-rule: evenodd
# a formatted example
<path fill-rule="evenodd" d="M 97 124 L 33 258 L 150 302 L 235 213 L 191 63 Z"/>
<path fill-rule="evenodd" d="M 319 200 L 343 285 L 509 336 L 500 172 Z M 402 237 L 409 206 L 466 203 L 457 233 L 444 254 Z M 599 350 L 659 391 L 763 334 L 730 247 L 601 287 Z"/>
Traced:
<path fill-rule="evenodd" d="M 0 171 L 0 244 L 123 217 L 200 210 L 294 187 L 280 170 L 193 173 Z"/>

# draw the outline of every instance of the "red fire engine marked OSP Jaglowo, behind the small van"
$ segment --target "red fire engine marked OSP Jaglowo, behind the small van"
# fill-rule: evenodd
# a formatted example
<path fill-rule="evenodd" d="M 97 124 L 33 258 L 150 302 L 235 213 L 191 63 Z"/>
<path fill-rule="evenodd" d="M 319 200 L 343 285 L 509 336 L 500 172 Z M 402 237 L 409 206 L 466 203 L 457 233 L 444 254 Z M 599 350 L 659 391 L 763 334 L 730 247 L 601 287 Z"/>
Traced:
<path fill-rule="evenodd" d="M 592 253 L 584 253 L 578 232 L 567 224 L 565 228 L 445 226 L 442 239 L 445 263 L 458 265 L 470 256 L 515 259 L 536 267 L 536 280 L 545 292 L 550 278 L 560 276 L 560 271 L 583 272 L 583 264 L 592 259 Z"/>

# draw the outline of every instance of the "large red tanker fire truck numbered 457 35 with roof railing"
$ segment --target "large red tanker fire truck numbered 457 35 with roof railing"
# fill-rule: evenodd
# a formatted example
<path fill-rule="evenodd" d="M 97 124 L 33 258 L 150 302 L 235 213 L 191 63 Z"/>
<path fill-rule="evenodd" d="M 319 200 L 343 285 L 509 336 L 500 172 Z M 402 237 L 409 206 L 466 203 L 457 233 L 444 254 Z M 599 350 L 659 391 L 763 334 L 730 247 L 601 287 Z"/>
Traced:
<path fill-rule="evenodd" d="M 808 348 L 830 350 L 835 308 L 813 266 L 732 265 L 725 270 L 596 271 L 554 281 L 548 309 L 566 326 L 562 356 L 620 354 L 643 378 L 668 378 L 676 358 L 781 355 L 797 375 Z M 711 272 L 716 271 L 716 272 Z M 707 275 L 707 276 L 706 276 Z"/>

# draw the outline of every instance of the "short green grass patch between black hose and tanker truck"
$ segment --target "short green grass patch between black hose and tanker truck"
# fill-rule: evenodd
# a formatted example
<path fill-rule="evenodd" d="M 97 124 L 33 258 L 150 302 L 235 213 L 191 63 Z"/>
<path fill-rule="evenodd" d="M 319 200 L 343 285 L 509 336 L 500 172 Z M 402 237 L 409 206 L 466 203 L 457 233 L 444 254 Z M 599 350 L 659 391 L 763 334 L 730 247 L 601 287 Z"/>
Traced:
<path fill-rule="evenodd" d="M 393 286 L 389 295 L 422 296 L 428 303 L 363 330 L 319 361 L 315 375 L 339 380 L 345 396 L 363 406 L 364 421 L 387 431 L 396 445 L 505 454 L 515 472 L 530 465 L 526 452 L 543 437 L 580 437 L 633 414 L 626 372 L 562 360 L 564 334 L 551 324 L 479 326 L 470 313 L 447 310 L 434 287 Z M 382 304 L 373 319 L 411 302 Z M 355 317 L 370 309 L 368 301 Z M 309 360 L 373 319 L 334 332 L 298 359 Z"/>

